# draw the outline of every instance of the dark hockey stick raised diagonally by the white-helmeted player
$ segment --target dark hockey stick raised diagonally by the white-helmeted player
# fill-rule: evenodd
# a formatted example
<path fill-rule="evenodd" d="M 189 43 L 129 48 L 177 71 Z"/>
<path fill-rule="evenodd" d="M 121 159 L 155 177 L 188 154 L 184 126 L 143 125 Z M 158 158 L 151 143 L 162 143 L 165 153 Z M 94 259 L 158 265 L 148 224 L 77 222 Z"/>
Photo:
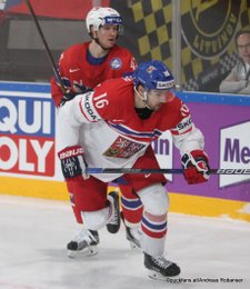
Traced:
<path fill-rule="evenodd" d="M 54 62 L 54 60 L 53 60 L 53 57 L 52 57 L 51 51 L 50 51 L 50 49 L 49 49 L 49 46 L 48 46 L 48 43 L 47 43 L 47 41 L 46 41 L 46 38 L 44 38 L 43 32 L 42 32 L 42 30 L 41 30 L 41 27 L 40 27 L 40 24 L 39 24 L 39 22 L 38 22 L 38 18 L 37 18 L 37 16 L 34 14 L 33 8 L 32 8 L 32 6 L 31 6 L 31 3 L 30 3 L 29 0 L 26 0 L 26 4 L 27 4 L 27 7 L 28 7 L 28 9 L 29 9 L 29 11 L 30 11 L 30 13 L 31 13 L 31 16 L 32 16 L 32 18 L 33 18 L 34 24 L 36 24 L 36 27 L 37 27 L 37 29 L 38 29 L 38 33 L 39 33 L 39 36 L 40 36 L 42 42 L 43 42 L 43 46 L 44 46 L 44 48 L 46 48 L 47 56 L 48 56 L 48 58 L 49 58 L 49 60 L 50 60 L 50 63 L 51 63 L 51 66 L 52 66 L 53 73 L 54 73 L 54 76 L 57 77 L 57 80 L 59 81 L 59 86 L 60 86 L 60 88 L 61 88 L 61 91 L 62 91 L 63 94 L 66 94 L 67 91 L 66 91 L 64 83 L 63 83 L 63 81 L 62 81 L 62 79 L 61 79 L 60 73 L 59 73 L 58 70 L 57 70 L 56 62 Z"/>

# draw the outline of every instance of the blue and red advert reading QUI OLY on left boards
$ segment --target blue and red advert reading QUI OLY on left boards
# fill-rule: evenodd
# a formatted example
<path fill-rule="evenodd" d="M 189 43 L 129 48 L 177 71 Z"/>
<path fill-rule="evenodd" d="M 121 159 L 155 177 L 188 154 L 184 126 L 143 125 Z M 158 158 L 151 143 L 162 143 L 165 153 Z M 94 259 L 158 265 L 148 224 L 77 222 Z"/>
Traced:
<path fill-rule="evenodd" d="M 54 107 L 51 98 L 49 94 L 42 98 L 41 93 L 37 97 L 31 92 L 11 93 L 1 92 L 0 98 L 0 173 L 52 177 Z"/>

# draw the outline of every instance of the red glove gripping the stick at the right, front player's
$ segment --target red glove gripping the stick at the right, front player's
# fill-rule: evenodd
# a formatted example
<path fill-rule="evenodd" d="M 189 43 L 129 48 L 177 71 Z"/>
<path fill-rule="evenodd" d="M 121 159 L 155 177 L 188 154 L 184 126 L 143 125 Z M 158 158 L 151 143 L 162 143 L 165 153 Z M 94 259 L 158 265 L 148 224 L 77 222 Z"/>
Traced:
<path fill-rule="evenodd" d="M 203 150 L 192 150 L 181 157 L 184 178 L 189 185 L 208 181 L 210 178 L 209 159 Z"/>

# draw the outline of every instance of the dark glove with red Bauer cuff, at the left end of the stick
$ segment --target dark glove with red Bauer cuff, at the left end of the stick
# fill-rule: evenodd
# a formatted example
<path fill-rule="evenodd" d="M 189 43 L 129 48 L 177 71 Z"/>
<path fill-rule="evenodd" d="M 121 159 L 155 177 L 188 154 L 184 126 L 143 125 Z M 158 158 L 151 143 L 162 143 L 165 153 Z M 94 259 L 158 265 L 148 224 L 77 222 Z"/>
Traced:
<path fill-rule="evenodd" d="M 58 152 L 61 160 L 61 169 L 66 179 L 82 176 L 86 180 L 89 175 L 86 173 L 87 162 L 84 160 L 84 151 L 80 146 L 67 147 Z"/>

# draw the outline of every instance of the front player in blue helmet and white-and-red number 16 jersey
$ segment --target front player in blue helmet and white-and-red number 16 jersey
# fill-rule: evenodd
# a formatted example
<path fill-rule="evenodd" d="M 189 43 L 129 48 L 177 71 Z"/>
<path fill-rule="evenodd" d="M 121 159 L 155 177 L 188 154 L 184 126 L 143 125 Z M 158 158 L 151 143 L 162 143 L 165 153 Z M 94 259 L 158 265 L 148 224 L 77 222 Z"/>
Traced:
<path fill-rule="evenodd" d="M 107 186 L 123 179 L 143 206 L 140 243 L 150 277 L 178 276 L 179 266 L 164 257 L 169 208 L 164 176 L 88 175 L 87 169 L 159 168 L 151 141 L 169 130 L 188 183 L 209 179 L 203 134 L 193 124 L 188 107 L 176 97 L 169 69 L 161 61 L 143 62 L 133 78 L 108 80 L 77 96 L 59 110 L 58 129 L 62 172 L 78 191 L 74 203 L 87 228 L 98 230 L 109 222 Z M 129 201 L 129 196 L 122 197 Z"/>

